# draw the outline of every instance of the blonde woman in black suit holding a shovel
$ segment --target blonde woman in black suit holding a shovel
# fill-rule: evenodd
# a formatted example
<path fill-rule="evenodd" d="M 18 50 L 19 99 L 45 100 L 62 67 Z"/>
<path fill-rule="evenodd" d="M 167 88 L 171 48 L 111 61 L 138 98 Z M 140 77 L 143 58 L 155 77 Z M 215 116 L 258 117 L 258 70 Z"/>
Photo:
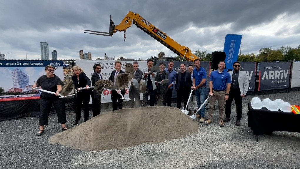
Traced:
<path fill-rule="evenodd" d="M 88 116 L 89 116 L 88 103 L 90 102 L 91 89 L 88 89 L 88 90 L 87 89 L 81 90 L 81 89 L 84 87 L 91 86 L 91 80 L 85 75 L 82 68 L 80 68 L 79 66 L 76 66 L 76 65 L 73 66 L 73 68 L 72 68 L 72 80 L 73 80 L 75 89 L 77 90 L 77 94 L 76 94 L 77 108 L 76 108 L 75 121 L 73 123 L 73 125 L 76 125 L 81 118 L 82 101 L 83 101 L 83 106 L 84 106 L 83 122 L 88 121 Z"/>

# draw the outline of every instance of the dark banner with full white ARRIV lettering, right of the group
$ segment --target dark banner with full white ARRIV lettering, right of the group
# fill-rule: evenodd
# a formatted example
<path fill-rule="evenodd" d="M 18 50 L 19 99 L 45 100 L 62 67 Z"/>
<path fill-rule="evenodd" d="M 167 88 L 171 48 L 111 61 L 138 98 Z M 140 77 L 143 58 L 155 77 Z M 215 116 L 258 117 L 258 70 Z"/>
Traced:
<path fill-rule="evenodd" d="M 260 62 L 258 90 L 289 87 L 289 62 Z"/>

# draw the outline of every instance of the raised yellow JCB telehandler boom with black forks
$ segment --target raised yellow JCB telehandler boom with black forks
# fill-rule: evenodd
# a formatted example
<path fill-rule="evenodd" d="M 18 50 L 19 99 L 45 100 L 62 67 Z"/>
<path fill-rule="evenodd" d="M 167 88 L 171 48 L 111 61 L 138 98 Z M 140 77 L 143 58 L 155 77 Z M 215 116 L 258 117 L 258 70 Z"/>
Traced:
<path fill-rule="evenodd" d="M 90 30 L 84 30 L 83 31 L 89 31 L 84 33 L 94 34 L 94 35 L 104 35 L 104 36 L 113 36 L 116 32 L 124 32 L 124 41 L 125 41 L 125 32 L 128 28 L 131 27 L 131 25 L 134 24 L 138 28 L 140 28 L 142 31 L 150 35 L 155 40 L 159 41 L 161 44 L 163 44 L 165 47 L 170 49 L 172 52 L 177 54 L 178 56 L 182 57 L 182 59 L 186 59 L 187 61 L 194 61 L 198 57 L 195 56 L 188 47 L 181 46 L 176 41 L 174 41 L 172 38 L 170 38 L 166 33 L 159 30 L 157 27 L 149 23 L 147 20 L 145 20 L 143 17 L 141 17 L 139 14 L 134 14 L 133 12 L 129 11 L 128 14 L 124 17 L 124 19 L 121 21 L 119 25 L 114 25 L 113 20 L 110 16 L 110 32 L 98 32 L 98 31 L 90 31 Z M 95 33 L 91 33 L 95 32 Z"/>

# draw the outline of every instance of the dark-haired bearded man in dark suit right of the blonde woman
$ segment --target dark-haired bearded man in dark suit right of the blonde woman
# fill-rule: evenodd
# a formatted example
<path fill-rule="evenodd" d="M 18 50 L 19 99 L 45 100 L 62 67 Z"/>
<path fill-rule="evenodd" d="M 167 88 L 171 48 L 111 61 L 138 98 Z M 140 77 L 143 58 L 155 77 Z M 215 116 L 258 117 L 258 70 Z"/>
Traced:
<path fill-rule="evenodd" d="M 101 76 L 101 65 L 100 64 L 95 64 L 94 67 L 94 73 L 92 74 L 91 81 L 92 81 L 92 86 L 95 86 L 95 83 L 103 79 Z M 96 90 L 91 92 L 91 98 L 92 98 L 92 103 L 93 103 L 93 117 L 99 115 L 101 113 L 101 95 L 97 93 Z"/>

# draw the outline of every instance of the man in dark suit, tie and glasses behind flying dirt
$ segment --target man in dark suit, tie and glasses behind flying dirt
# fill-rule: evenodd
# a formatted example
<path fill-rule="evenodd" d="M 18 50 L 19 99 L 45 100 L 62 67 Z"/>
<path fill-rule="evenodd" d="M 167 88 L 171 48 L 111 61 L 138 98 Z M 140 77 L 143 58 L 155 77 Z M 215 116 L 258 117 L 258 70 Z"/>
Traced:
<path fill-rule="evenodd" d="M 124 71 L 121 70 L 122 67 L 122 63 L 120 61 L 116 61 L 115 62 L 115 71 L 112 71 L 112 73 L 110 74 L 110 77 L 108 78 L 108 80 L 111 80 L 114 84 L 114 86 L 118 86 L 116 85 L 116 77 L 119 74 L 125 73 Z M 121 94 L 124 96 L 125 95 L 125 88 L 124 89 L 117 89 L 117 90 L 121 90 Z M 119 95 L 119 91 L 116 92 L 116 90 L 112 90 L 112 95 L 111 95 L 111 99 L 112 99 L 112 103 L 113 103 L 113 111 L 114 110 L 118 110 L 117 109 L 117 100 L 119 102 L 119 109 L 123 108 L 123 100 L 122 100 L 122 96 Z"/>

